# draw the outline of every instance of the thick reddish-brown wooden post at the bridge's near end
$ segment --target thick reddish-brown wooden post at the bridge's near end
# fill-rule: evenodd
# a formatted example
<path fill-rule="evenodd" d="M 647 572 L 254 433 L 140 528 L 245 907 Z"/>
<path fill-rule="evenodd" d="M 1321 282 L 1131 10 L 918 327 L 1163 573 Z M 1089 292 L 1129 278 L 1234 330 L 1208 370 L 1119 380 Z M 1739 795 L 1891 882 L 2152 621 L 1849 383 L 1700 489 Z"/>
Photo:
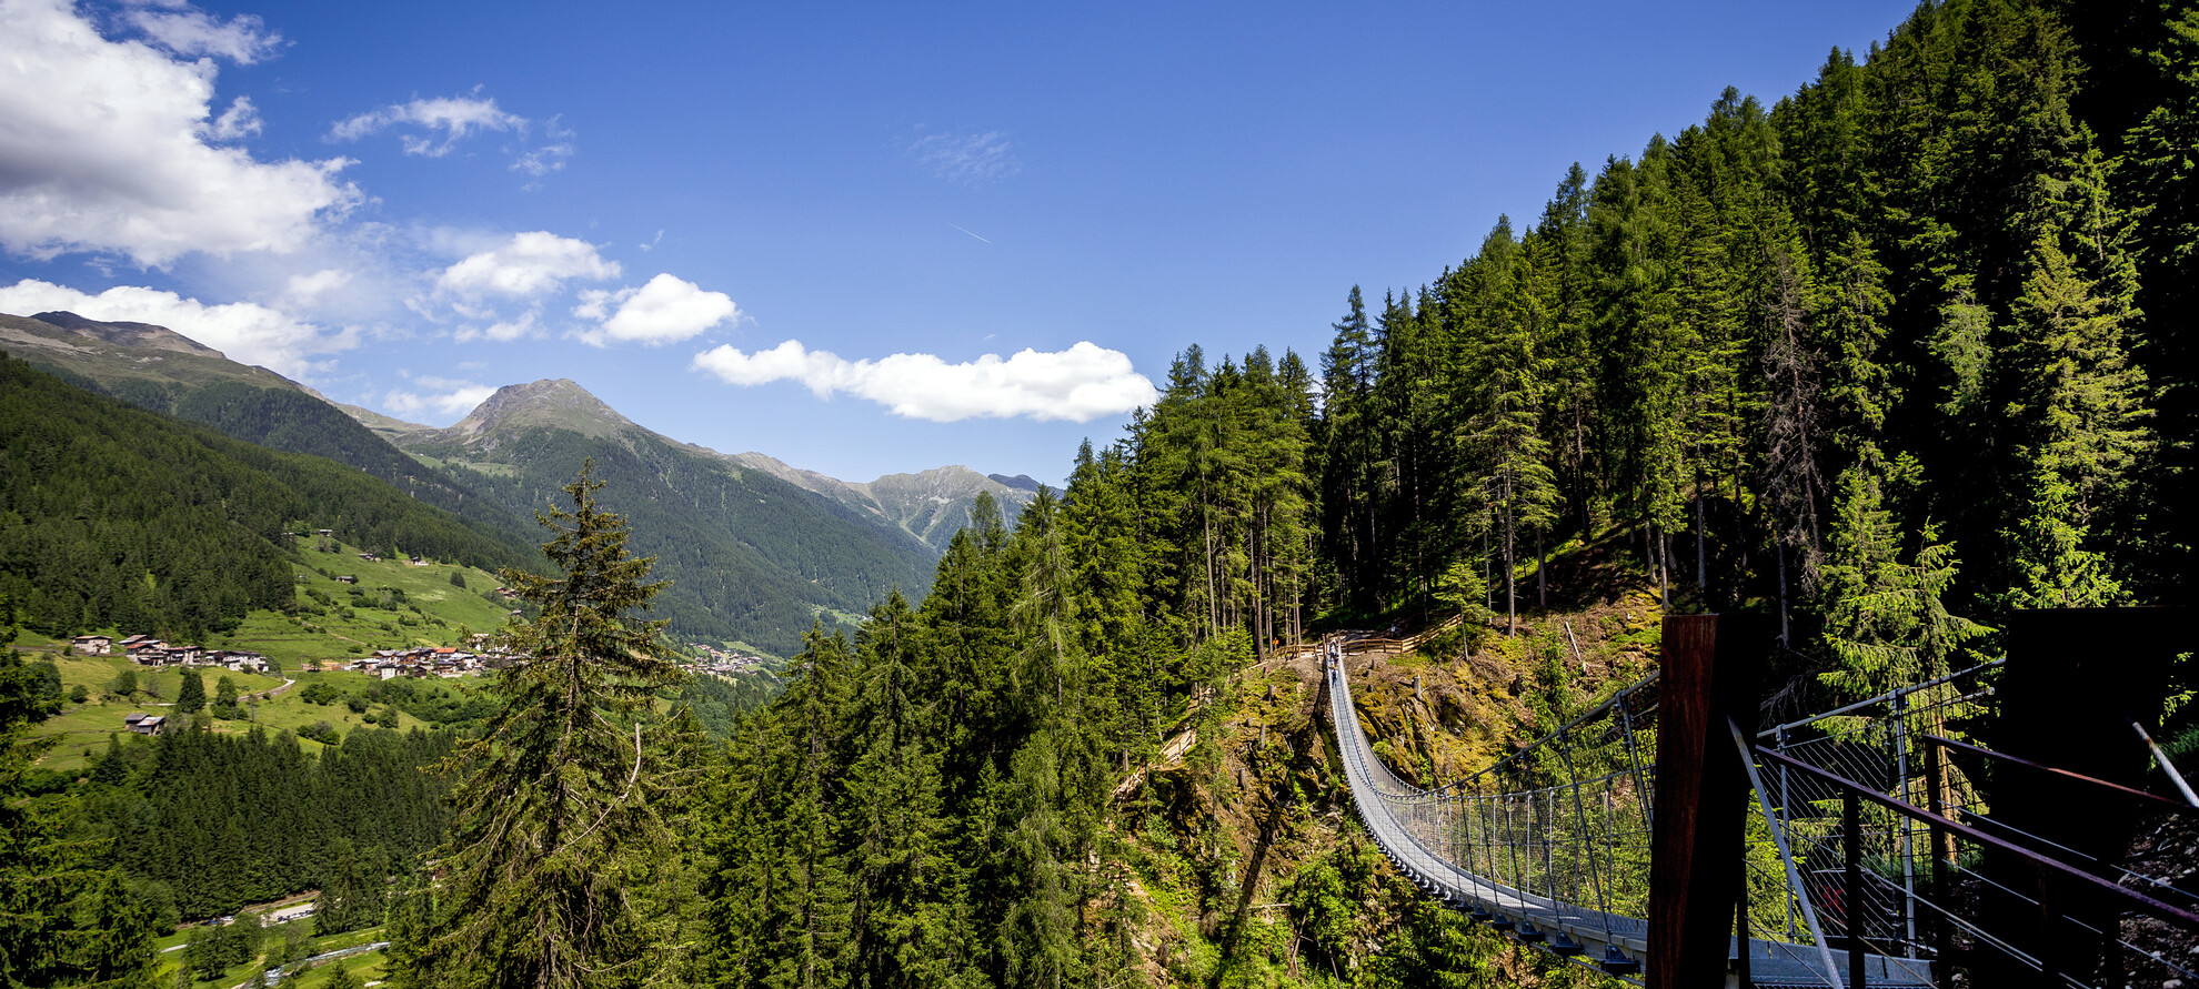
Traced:
<path fill-rule="evenodd" d="M 1726 982 L 1733 890 L 1746 879 L 1748 774 L 1733 719 L 1753 732 L 1759 615 L 1667 615 L 1658 673 L 1656 813 L 1649 824 L 1649 987 Z M 1746 949 L 1746 945 L 1744 945 Z"/>

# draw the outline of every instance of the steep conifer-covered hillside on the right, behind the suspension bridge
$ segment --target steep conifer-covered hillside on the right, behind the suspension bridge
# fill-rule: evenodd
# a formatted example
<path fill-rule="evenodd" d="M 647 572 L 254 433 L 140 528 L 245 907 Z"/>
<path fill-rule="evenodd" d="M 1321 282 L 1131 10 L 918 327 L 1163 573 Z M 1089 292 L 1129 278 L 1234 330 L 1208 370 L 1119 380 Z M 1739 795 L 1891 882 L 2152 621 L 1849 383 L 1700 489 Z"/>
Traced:
<path fill-rule="evenodd" d="M 2188 589 L 2199 13 L 2065 13 L 1924 4 L 1775 105 L 1726 92 L 1555 176 L 1425 286 L 1352 290 L 1317 382 L 1187 349 L 1060 499 L 811 640 L 715 800 L 706 978 L 1588 978 L 1385 899 L 1247 664 L 1304 624 L 1465 618 L 1427 677 L 1524 697 L 1361 714 L 1489 738 L 1581 701 L 1559 640 L 1504 633 L 1627 569 L 1651 611 L 1781 615 L 1775 684 L 1827 699 L 1990 655 L 2008 609 Z M 2087 55 L 2133 40 L 2157 55 L 2087 99 Z M 1183 769 L 1130 774 L 1154 758 Z"/>

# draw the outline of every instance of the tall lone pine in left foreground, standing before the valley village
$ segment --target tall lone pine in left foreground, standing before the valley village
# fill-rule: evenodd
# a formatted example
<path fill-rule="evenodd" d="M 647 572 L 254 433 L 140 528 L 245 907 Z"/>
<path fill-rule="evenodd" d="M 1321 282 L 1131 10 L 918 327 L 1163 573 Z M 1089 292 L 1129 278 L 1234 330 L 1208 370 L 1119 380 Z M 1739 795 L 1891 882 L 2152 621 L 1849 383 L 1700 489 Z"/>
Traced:
<path fill-rule="evenodd" d="M 655 690 L 679 679 L 640 620 L 666 585 L 627 554 L 627 525 L 596 508 L 594 464 L 565 486 L 572 508 L 537 519 L 565 576 L 506 571 L 541 609 L 501 640 L 523 659 L 499 679 L 504 710 L 449 760 L 468 769 L 457 824 L 435 857 L 442 912 L 411 985 L 563 989 L 644 985 L 662 960 L 642 938 L 649 903 L 633 877 L 671 846 L 662 802 L 673 780 L 647 734 Z"/>

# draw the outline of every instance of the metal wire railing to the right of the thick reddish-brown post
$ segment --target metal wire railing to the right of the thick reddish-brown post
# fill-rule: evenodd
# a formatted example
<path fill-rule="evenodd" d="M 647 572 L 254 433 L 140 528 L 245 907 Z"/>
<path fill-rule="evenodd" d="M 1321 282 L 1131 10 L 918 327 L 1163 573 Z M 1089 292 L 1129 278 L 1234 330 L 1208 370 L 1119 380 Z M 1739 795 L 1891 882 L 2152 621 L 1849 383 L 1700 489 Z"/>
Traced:
<path fill-rule="evenodd" d="M 1753 890 L 1772 890 L 1753 892 L 1750 934 L 1797 945 L 1821 934 L 1940 987 L 1957 985 L 1957 969 L 1964 985 L 2144 985 L 2126 980 L 2131 960 L 2195 980 L 2199 963 L 2131 943 L 2122 919 L 2188 923 L 2199 897 L 2027 833 L 1970 776 L 1981 758 L 2010 758 L 1968 738 L 1999 673 L 2001 662 L 1975 666 L 1755 736 L 1768 813 L 1753 844 L 1777 829 L 1799 884 L 1775 881 L 1779 862 L 1750 855 Z"/>

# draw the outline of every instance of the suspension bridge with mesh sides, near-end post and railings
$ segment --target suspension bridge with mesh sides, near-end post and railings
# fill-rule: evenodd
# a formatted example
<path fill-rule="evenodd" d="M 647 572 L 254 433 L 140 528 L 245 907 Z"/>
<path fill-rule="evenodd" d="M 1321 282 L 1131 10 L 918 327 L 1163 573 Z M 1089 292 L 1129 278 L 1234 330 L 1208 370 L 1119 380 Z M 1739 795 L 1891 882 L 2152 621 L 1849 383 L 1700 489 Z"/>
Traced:
<path fill-rule="evenodd" d="M 1658 673 L 1427 787 L 1359 723 L 1352 668 L 1377 659 L 1344 637 L 1322 653 L 1377 846 L 1520 943 L 1658 989 L 2199 985 L 2199 947 L 2124 923 L 2199 941 L 2199 894 L 2120 864 L 2140 818 L 2199 820 L 2131 716 L 2159 712 L 2181 611 L 2122 611 L 2019 615 L 2008 659 L 1781 723 L 1755 699 L 1768 626 L 1667 618 Z M 2098 655 L 2118 624 L 2126 648 Z M 2091 653 L 2056 648 L 2087 633 Z M 2155 765 L 2181 800 L 2144 789 Z"/>

